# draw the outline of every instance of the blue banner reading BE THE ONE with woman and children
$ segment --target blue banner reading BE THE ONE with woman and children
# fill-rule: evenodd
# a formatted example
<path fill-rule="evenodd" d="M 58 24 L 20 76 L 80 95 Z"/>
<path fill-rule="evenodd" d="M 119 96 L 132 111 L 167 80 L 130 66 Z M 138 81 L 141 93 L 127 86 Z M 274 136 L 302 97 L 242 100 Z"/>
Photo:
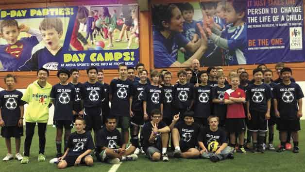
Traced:
<path fill-rule="evenodd" d="M 154 66 L 304 62 L 303 18 L 303 0 L 152 4 Z"/>

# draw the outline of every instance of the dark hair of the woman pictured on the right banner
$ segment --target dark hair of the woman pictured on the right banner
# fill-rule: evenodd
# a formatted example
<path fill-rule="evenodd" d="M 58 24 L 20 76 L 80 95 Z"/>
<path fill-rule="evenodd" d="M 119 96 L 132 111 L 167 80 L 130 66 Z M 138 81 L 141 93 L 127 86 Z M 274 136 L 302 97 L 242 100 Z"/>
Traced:
<path fill-rule="evenodd" d="M 153 25 L 158 31 L 164 31 L 165 28 L 162 24 L 163 21 L 166 23 L 170 22 L 172 17 L 172 10 L 178 8 L 175 4 L 160 4 L 156 5 L 152 9 L 153 14 Z"/>

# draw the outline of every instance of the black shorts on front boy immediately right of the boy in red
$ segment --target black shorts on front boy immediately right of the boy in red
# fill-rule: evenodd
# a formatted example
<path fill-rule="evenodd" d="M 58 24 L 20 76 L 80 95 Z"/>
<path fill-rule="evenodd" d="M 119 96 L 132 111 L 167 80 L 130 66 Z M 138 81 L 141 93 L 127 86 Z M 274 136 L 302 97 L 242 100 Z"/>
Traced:
<path fill-rule="evenodd" d="M 250 110 L 251 120 L 248 121 L 247 127 L 249 131 L 257 132 L 267 132 L 268 131 L 268 120 L 266 120 L 265 112 L 259 112 L 256 110 Z"/>

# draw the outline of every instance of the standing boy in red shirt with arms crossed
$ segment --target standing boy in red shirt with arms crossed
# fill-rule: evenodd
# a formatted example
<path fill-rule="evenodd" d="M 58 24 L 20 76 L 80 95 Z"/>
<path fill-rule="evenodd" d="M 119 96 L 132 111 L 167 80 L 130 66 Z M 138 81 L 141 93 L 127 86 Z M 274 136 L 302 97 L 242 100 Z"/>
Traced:
<path fill-rule="evenodd" d="M 238 135 L 239 148 L 238 151 L 246 154 L 244 144 L 245 129 L 245 111 L 243 102 L 246 100 L 245 92 L 238 88 L 239 78 L 238 75 L 230 76 L 231 89 L 227 90 L 224 94 L 224 103 L 227 104 L 227 116 L 226 116 L 226 129 L 230 133 L 230 146 L 235 147 L 235 133 Z"/>

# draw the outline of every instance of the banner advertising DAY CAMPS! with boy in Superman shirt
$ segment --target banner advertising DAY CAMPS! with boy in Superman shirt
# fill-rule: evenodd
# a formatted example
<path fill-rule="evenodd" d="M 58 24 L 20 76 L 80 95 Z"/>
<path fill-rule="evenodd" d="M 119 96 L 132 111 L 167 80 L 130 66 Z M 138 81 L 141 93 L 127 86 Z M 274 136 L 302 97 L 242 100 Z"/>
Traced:
<path fill-rule="evenodd" d="M 137 5 L 0 10 L 0 71 L 134 66 Z"/>

